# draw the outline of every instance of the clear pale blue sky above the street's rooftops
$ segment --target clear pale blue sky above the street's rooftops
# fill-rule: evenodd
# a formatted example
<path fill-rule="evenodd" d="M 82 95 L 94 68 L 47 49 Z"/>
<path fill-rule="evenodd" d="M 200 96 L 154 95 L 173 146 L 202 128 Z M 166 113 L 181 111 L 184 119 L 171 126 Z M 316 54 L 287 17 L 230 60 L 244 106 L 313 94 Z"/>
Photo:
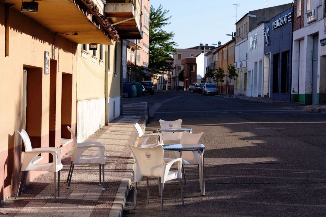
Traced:
<path fill-rule="evenodd" d="M 273 7 L 292 0 L 267 0 L 267 6 Z M 228 42 L 235 31 L 235 14 L 237 19 L 242 18 L 248 11 L 265 8 L 264 0 L 150 0 L 150 4 L 157 8 L 160 4 L 170 10 L 171 24 L 164 30 L 174 32 L 174 41 L 178 48 L 198 46 L 200 43 L 222 44 Z"/>

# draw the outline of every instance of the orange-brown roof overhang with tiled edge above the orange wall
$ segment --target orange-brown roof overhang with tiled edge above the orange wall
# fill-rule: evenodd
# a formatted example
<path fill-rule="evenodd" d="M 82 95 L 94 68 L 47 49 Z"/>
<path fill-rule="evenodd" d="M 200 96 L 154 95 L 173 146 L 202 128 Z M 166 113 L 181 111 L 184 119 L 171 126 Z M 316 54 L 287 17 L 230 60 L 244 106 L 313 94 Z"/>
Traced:
<path fill-rule="evenodd" d="M 119 41 L 119 35 L 92 0 L 42 0 L 37 13 L 23 13 L 53 33 L 78 44 L 108 44 Z M 5 0 L 21 11 L 22 0 Z M 74 35 L 77 32 L 77 35 Z"/>

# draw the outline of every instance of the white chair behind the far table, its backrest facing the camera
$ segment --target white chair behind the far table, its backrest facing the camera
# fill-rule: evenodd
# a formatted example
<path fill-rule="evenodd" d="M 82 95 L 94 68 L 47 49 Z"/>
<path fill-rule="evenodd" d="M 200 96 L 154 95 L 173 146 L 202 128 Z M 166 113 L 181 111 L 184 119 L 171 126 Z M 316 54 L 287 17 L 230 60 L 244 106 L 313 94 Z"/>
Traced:
<path fill-rule="evenodd" d="M 182 119 L 175 121 L 159 120 L 161 129 L 181 129 Z M 183 132 L 162 132 L 163 142 L 179 143 Z"/>

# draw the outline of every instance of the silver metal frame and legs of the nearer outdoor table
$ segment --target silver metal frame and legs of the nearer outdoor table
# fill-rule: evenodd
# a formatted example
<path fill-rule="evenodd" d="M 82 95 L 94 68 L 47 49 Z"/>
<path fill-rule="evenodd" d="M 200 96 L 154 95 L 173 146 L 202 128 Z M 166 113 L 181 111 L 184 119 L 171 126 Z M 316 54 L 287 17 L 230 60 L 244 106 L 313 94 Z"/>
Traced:
<path fill-rule="evenodd" d="M 173 144 L 170 144 L 173 145 Z M 174 144 L 176 145 L 176 144 Z M 180 144 L 178 144 L 180 145 Z M 182 144 L 181 144 L 182 145 Z M 203 144 L 203 148 L 169 148 L 169 145 L 162 145 L 164 151 L 198 151 L 199 153 L 199 187 L 201 190 L 201 195 L 205 196 L 205 168 L 204 168 L 204 148 L 205 146 Z"/>

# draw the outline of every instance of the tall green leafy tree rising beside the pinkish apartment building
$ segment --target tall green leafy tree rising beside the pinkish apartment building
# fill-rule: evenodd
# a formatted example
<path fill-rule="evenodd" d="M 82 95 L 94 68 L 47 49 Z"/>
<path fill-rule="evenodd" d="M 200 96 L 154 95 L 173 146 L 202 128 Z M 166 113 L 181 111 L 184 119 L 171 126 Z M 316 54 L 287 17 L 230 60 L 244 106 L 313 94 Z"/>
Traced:
<path fill-rule="evenodd" d="M 176 51 L 176 43 L 173 41 L 173 32 L 166 32 L 162 27 L 169 25 L 169 10 L 163 9 L 162 5 L 155 9 L 150 7 L 149 22 L 149 64 L 150 73 L 162 73 L 172 69 L 166 60 L 172 60 L 172 54 Z"/>

